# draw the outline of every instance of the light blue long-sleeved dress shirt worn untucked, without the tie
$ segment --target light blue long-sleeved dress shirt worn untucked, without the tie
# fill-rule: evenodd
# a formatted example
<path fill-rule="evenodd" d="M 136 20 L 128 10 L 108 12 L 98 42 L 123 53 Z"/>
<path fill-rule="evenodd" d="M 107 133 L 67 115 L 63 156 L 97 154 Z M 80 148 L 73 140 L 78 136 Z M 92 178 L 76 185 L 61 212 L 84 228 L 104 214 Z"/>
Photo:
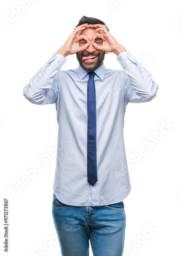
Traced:
<path fill-rule="evenodd" d="M 96 69 L 97 173 L 94 186 L 87 182 L 88 71 L 60 70 L 66 58 L 54 53 L 24 87 L 34 104 L 56 105 L 57 160 L 53 191 L 59 201 L 75 206 L 100 206 L 123 201 L 131 184 L 123 127 L 128 102 L 146 102 L 158 86 L 152 75 L 129 50 L 117 56 L 123 70 Z"/>

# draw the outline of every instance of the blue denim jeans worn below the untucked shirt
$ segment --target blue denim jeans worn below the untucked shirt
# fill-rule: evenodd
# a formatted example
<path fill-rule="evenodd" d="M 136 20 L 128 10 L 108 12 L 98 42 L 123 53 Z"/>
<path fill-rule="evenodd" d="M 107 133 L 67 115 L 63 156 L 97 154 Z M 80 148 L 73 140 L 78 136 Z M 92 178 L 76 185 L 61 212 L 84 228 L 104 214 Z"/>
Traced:
<path fill-rule="evenodd" d="M 126 215 L 123 201 L 104 206 L 72 206 L 53 195 L 52 215 L 62 256 L 122 256 Z"/>

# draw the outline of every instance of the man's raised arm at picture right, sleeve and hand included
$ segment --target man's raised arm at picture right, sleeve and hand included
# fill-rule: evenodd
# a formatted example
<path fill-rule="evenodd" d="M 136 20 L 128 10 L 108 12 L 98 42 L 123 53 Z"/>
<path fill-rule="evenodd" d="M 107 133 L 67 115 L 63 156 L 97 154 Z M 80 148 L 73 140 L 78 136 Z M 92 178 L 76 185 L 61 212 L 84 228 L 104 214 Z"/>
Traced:
<path fill-rule="evenodd" d="M 117 55 L 117 59 L 125 71 L 125 99 L 127 102 L 146 102 L 156 96 L 158 85 L 152 81 L 152 75 L 135 59 L 131 53 L 113 38 L 104 25 L 90 25 L 96 28 L 97 33 L 92 43 L 98 50 L 112 52 Z M 95 38 L 103 40 L 102 46 L 97 45 Z"/>

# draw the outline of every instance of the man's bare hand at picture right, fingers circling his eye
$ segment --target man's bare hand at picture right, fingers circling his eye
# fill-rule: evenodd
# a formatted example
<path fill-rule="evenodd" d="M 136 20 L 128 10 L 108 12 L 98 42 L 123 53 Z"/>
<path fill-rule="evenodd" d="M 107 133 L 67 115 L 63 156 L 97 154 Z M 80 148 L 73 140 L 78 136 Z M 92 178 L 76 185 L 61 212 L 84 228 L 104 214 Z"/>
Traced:
<path fill-rule="evenodd" d="M 124 46 L 120 45 L 119 42 L 113 38 L 113 36 L 109 33 L 106 26 L 101 24 L 89 25 L 90 28 L 96 28 L 96 31 L 99 31 L 101 34 L 97 33 L 92 38 L 92 44 L 95 49 L 102 50 L 105 52 L 113 52 L 116 55 L 119 55 L 121 52 L 126 52 Z M 95 42 L 96 38 L 101 38 L 103 40 L 103 44 L 97 44 Z"/>

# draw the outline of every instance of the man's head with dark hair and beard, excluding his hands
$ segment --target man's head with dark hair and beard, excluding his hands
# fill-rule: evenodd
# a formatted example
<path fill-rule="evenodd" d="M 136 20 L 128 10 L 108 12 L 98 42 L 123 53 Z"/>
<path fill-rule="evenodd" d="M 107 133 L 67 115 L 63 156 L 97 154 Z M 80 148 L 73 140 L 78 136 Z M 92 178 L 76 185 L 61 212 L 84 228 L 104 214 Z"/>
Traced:
<path fill-rule="evenodd" d="M 105 23 L 103 23 L 100 19 L 82 16 L 82 18 L 79 20 L 79 23 L 76 27 L 78 27 L 82 24 L 85 24 L 85 23 L 87 23 L 88 25 L 89 24 L 105 25 Z M 108 28 L 107 28 L 107 30 L 108 30 Z M 105 51 L 96 50 L 94 48 L 94 46 L 92 45 L 92 38 L 97 33 L 100 33 L 100 32 L 96 31 L 95 28 L 87 28 L 81 32 L 81 34 L 84 34 L 85 36 L 88 37 L 88 39 L 90 40 L 91 43 L 88 46 L 88 48 L 85 49 L 84 51 L 77 52 L 76 56 L 77 56 L 80 66 L 87 71 L 94 71 L 94 70 L 98 69 L 103 63 L 105 53 L 107 53 Z M 103 43 L 102 39 L 100 39 L 100 38 L 96 38 L 95 42 L 96 42 L 96 44 L 99 44 L 99 45 L 102 45 L 102 43 Z M 83 46 L 84 44 L 86 44 L 86 41 L 84 39 L 82 39 L 82 40 L 80 40 L 79 44 L 80 44 L 80 46 Z"/>

